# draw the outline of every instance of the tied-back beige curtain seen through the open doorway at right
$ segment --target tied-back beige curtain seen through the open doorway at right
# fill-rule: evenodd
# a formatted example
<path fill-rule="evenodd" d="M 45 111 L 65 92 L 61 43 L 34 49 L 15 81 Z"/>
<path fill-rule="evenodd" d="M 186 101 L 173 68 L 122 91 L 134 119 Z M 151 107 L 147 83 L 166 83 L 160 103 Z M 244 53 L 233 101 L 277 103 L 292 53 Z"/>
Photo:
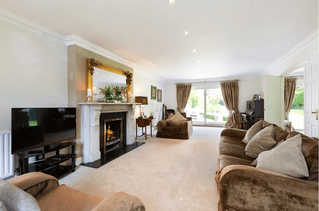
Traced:
<path fill-rule="evenodd" d="M 289 120 L 289 112 L 291 105 L 293 104 L 293 97 L 295 96 L 295 89 L 297 84 L 297 78 L 285 78 L 285 120 Z M 296 131 L 291 126 L 293 131 Z"/>

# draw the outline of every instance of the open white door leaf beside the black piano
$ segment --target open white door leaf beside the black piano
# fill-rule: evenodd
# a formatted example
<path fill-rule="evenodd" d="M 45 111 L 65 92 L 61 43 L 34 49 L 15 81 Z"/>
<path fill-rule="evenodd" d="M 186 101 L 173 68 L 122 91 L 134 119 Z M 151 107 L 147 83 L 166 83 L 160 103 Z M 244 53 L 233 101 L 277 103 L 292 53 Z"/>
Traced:
<path fill-rule="evenodd" d="M 284 113 L 281 112 L 284 97 L 282 92 L 283 77 L 265 75 L 264 78 L 264 118 L 265 121 L 284 128 Z"/>

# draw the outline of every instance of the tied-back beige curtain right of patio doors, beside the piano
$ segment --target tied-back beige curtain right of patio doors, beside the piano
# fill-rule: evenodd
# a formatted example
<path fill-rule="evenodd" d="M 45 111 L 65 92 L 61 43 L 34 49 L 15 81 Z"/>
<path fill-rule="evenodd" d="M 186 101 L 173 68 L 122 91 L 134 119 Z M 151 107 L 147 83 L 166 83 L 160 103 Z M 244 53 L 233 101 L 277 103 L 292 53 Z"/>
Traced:
<path fill-rule="evenodd" d="M 241 120 L 240 113 L 238 112 L 238 81 L 220 82 L 220 87 L 223 93 L 226 108 L 228 110 L 228 118 L 226 124 L 224 125 L 224 128 L 239 129 L 241 128 L 241 124 L 235 123 L 235 119 L 233 117 L 234 111 L 236 120 Z"/>

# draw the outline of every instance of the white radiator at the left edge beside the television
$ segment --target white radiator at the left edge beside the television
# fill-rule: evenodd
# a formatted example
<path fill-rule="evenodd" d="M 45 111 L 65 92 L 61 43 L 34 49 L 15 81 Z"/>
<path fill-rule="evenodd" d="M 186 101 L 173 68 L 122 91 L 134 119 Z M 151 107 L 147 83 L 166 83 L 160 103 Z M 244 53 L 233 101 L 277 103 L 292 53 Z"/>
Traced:
<path fill-rule="evenodd" d="M 0 179 L 13 175 L 13 155 L 11 155 L 11 131 L 0 132 Z"/>

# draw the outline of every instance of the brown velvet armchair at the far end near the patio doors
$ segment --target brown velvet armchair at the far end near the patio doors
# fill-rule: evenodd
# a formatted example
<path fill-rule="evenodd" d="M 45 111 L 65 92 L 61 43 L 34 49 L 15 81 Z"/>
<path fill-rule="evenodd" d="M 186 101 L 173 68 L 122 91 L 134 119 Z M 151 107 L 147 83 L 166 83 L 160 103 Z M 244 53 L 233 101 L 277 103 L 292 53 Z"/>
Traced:
<path fill-rule="evenodd" d="M 175 113 L 168 113 L 170 114 Z M 170 125 L 165 120 L 159 121 L 157 123 L 157 133 L 156 137 L 158 138 L 173 138 L 173 139 L 189 139 L 190 135 L 193 133 L 193 120 L 192 117 L 186 117 L 186 113 L 181 113 L 184 118 L 188 119 L 180 126 Z"/>

